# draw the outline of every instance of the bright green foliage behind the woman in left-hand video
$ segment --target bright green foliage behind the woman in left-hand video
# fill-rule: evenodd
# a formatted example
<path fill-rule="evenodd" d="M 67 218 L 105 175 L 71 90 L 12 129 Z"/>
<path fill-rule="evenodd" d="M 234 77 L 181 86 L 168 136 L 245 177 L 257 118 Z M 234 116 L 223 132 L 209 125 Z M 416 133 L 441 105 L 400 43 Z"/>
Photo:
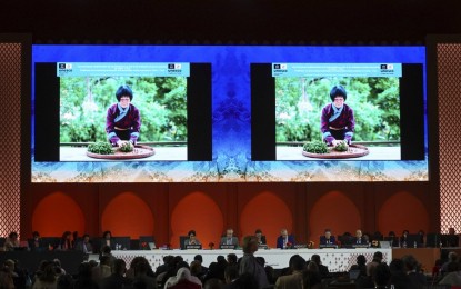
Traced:
<path fill-rule="evenodd" d="M 106 141 L 106 114 L 128 84 L 141 113 L 141 141 L 187 141 L 184 77 L 82 77 L 60 79 L 60 141 Z"/>

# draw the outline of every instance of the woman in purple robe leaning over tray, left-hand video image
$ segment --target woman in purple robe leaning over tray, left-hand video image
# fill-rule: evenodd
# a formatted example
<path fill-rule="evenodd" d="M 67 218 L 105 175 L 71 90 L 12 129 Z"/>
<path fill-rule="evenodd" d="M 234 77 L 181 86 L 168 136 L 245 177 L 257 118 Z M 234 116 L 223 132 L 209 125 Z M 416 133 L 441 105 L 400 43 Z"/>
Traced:
<path fill-rule="evenodd" d="M 124 142 L 136 144 L 141 128 L 139 110 L 131 104 L 133 92 L 129 86 L 121 86 L 116 97 L 118 102 L 108 109 L 106 132 L 112 146 L 121 147 Z"/>

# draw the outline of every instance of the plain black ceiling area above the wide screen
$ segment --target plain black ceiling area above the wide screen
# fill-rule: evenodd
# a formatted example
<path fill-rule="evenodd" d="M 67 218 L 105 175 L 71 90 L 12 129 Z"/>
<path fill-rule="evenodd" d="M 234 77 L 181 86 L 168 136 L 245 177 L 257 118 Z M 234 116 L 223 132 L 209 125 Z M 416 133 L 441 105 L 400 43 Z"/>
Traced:
<path fill-rule="evenodd" d="M 457 2 L 14 1 L 2 3 L 0 32 L 31 33 L 44 43 L 414 44 L 427 34 L 460 33 Z"/>

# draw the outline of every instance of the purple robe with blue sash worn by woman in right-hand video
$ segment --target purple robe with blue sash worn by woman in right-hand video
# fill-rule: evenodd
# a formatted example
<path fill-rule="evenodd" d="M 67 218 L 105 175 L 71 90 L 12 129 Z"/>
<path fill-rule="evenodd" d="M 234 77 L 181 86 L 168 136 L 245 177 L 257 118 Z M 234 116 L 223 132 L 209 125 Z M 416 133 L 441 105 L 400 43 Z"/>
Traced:
<path fill-rule="evenodd" d="M 322 131 L 323 141 L 328 144 L 332 144 L 333 140 L 339 139 L 351 143 L 355 128 L 353 111 L 344 103 L 342 104 L 343 108 L 341 113 L 334 120 L 331 120 L 334 114 L 332 106 L 333 103 L 329 103 L 322 109 L 320 129 Z"/>

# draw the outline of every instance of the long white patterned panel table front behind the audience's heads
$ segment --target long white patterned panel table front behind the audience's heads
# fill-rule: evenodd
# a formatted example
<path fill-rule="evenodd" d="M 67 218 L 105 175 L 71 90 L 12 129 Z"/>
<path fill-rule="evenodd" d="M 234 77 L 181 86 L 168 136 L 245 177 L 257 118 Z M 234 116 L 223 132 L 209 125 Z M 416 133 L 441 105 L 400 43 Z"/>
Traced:
<path fill-rule="evenodd" d="M 289 260 L 293 255 L 300 255 L 304 259 L 309 260 L 312 255 L 317 253 L 323 265 L 328 266 L 330 272 L 348 271 L 349 268 L 355 263 L 357 256 L 365 256 L 368 261 L 373 259 L 373 253 L 381 251 L 383 255 L 383 261 L 390 262 L 392 260 L 392 249 L 371 249 L 371 248 L 357 248 L 357 249 L 268 249 L 259 250 L 254 256 L 260 256 L 265 259 L 268 266 L 272 266 L 274 269 L 285 268 L 289 265 Z M 242 250 L 143 250 L 143 251 L 112 251 L 116 258 L 123 259 L 127 265 L 130 265 L 134 257 L 143 256 L 148 259 L 153 269 L 163 263 L 163 257 L 168 255 L 182 256 L 188 263 L 193 261 L 196 255 L 203 257 L 203 266 L 208 267 L 211 262 L 217 260 L 218 256 L 227 256 L 228 253 L 235 253 L 238 258 L 243 256 Z"/>

